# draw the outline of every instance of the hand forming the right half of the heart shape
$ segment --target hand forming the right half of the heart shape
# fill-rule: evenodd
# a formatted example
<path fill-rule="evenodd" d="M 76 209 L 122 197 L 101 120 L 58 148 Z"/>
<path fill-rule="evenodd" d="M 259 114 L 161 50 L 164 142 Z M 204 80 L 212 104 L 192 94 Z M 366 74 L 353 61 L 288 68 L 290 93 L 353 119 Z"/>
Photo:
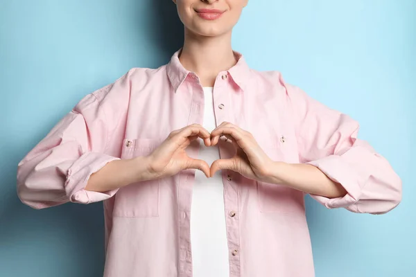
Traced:
<path fill-rule="evenodd" d="M 216 145 L 221 137 L 236 147 L 236 155 L 231 159 L 214 161 L 210 176 L 214 176 L 218 170 L 229 169 L 250 179 L 269 179 L 269 172 L 275 162 L 261 149 L 250 132 L 232 123 L 223 122 L 211 132 L 211 145 Z"/>

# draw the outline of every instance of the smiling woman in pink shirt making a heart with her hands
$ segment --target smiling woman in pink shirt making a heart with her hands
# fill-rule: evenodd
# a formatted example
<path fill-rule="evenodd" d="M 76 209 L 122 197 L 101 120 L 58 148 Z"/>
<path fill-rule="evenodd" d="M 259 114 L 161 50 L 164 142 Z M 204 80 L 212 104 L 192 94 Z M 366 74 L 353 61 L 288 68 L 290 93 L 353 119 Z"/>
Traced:
<path fill-rule="evenodd" d="M 104 276 L 313 276 L 305 194 L 355 213 L 401 201 L 355 120 L 232 51 L 247 1 L 175 1 L 171 62 L 85 96 L 19 163 L 33 208 L 104 201 Z"/>

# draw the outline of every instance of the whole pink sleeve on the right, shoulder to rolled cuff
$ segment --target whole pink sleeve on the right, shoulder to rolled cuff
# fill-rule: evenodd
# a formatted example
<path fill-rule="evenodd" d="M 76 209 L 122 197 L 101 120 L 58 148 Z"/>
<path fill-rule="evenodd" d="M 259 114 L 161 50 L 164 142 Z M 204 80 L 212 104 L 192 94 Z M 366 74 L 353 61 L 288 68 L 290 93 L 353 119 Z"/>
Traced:
<path fill-rule="evenodd" d="M 286 92 L 301 163 L 319 168 L 347 190 L 344 197 L 311 197 L 327 208 L 355 213 L 382 214 L 395 208 L 401 202 L 401 179 L 381 154 L 358 139 L 358 122 L 298 87 L 286 84 Z"/>

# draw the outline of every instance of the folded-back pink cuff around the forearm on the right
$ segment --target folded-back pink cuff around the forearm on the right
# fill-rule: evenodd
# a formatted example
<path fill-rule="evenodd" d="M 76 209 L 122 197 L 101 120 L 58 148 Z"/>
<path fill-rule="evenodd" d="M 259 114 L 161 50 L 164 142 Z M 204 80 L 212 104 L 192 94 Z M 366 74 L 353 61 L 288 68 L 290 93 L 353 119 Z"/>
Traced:
<path fill-rule="evenodd" d="M 327 208 L 348 208 L 359 213 L 356 202 L 361 195 L 358 172 L 354 167 L 338 155 L 330 155 L 316 161 L 310 161 L 312 166 L 319 168 L 329 179 L 336 181 L 347 190 L 347 195 L 337 198 L 328 198 L 320 195 L 311 195 L 313 199 Z"/>

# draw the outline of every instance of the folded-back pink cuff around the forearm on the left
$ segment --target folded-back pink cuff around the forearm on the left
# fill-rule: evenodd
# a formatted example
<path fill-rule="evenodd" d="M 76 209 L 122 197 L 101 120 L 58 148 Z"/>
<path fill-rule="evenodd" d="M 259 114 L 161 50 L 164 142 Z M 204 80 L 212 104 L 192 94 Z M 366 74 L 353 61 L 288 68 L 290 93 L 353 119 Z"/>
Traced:
<path fill-rule="evenodd" d="M 87 186 L 89 177 L 93 173 L 101 170 L 107 163 L 114 160 L 119 160 L 119 158 L 96 152 L 85 153 L 76 160 L 71 168 L 69 168 L 67 181 L 65 181 L 65 191 L 69 197 L 69 201 L 89 204 L 112 197 L 119 190 L 118 188 L 98 193 L 85 190 L 85 187 Z"/>

